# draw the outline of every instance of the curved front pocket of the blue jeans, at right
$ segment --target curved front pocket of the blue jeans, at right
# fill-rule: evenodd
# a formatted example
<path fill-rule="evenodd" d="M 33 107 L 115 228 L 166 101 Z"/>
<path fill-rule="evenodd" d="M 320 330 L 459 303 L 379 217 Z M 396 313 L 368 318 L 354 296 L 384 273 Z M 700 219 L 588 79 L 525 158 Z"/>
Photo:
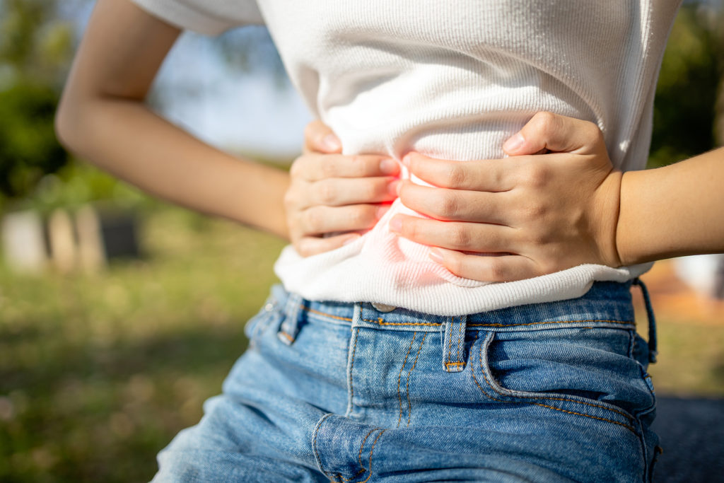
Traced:
<path fill-rule="evenodd" d="M 633 426 L 653 406 L 633 329 L 578 327 L 485 332 L 471 356 L 489 398 L 531 403 Z M 606 417 L 602 417 L 606 416 Z"/>

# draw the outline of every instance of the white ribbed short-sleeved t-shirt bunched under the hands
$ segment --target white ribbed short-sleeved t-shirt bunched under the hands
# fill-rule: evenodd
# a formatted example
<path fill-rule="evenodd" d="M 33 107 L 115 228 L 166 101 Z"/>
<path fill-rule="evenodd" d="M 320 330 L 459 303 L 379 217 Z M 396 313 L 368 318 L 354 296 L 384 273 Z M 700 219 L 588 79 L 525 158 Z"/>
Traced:
<path fill-rule="evenodd" d="M 133 0 L 163 20 L 216 35 L 265 23 L 292 83 L 345 154 L 418 151 L 501 159 L 539 111 L 596 123 L 615 167 L 643 169 L 654 90 L 681 0 Z M 494 162 L 494 161 L 492 161 Z M 413 180 L 414 181 L 414 180 Z M 443 316 L 575 298 L 650 264 L 581 265 L 507 283 L 456 277 L 429 248 L 388 228 L 275 271 L 312 300 L 369 301 Z"/>

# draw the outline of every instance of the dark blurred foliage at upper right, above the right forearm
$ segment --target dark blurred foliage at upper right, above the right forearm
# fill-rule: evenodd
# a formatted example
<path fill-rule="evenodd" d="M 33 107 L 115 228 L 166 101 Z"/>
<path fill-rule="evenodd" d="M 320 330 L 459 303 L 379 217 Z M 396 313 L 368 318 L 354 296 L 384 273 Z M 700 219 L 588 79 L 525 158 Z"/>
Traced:
<path fill-rule="evenodd" d="M 654 101 L 649 166 L 701 154 L 724 141 L 715 137 L 717 91 L 724 75 L 722 9 L 684 5 L 671 30 Z M 724 98 L 720 112 L 724 112 Z M 723 119 L 724 114 L 720 114 Z"/>

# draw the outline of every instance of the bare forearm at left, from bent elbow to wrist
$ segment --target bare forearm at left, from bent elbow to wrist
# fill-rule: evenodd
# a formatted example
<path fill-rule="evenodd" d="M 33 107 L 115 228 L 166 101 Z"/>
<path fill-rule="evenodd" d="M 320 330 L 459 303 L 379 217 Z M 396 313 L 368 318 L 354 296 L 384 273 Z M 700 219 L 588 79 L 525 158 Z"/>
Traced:
<path fill-rule="evenodd" d="M 160 198 L 287 237 L 286 172 L 212 148 L 134 99 L 73 105 L 58 131 L 79 156 Z"/>

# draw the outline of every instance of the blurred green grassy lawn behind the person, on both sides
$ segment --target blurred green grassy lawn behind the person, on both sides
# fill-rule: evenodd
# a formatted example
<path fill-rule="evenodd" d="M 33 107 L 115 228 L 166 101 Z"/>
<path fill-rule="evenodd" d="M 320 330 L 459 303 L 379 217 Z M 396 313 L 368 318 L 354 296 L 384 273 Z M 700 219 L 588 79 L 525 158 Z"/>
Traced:
<path fill-rule="evenodd" d="M 1 270 L 0 481 L 148 481 L 243 352 L 281 240 L 167 206 L 142 226 L 147 256 L 102 274 Z M 723 397 L 724 324 L 659 315 L 658 391 Z"/>

